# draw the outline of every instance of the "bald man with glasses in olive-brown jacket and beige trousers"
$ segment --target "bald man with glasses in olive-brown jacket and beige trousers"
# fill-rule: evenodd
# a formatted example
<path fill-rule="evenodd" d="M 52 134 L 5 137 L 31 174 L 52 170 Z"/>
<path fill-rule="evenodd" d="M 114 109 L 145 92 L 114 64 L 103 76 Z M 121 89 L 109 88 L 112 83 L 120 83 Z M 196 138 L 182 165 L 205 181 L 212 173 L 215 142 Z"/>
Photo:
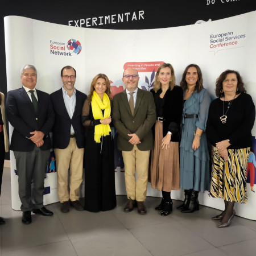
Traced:
<path fill-rule="evenodd" d="M 118 131 L 117 146 L 122 151 L 125 163 L 125 186 L 129 201 L 124 210 L 130 212 L 138 205 L 138 212 L 145 214 L 148 162 L 150 150 L 154 147 L 151 128 L 156 120 L 155 102 L 152 93 L 138 88 L 136 69 L 127 68 L 122 80 L 126 90 L 113 97 L 112 117 Z"/>

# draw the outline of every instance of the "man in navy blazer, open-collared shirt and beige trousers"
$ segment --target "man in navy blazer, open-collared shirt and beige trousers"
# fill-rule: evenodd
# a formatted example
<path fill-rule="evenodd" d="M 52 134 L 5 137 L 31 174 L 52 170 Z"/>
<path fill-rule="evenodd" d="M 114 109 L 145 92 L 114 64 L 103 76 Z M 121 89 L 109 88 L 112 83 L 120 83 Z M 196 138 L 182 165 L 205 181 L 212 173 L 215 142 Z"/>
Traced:
<path fill-rule="evenodd" d="M 51 94 L 55 112 L 53 148 L 56 156 L 60 210 L 67 213 L 69 204 L 76 210 L 84 210 L 79 202 L 79 188 L 82 183 L 85 144 L 81 112 L 86 95 L 75 89 L 76 71 L 74 68 L 65 66 L 61 69 L 60 76 L 63 87 Z"/>

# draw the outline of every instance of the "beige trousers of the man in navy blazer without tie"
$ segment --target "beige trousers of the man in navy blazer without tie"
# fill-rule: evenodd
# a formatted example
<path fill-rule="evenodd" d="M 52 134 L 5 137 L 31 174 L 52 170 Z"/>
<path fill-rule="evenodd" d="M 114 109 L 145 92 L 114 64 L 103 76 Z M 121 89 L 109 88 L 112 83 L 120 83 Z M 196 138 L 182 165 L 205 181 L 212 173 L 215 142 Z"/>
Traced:
<path fill-rule="evenodd" d="M 60 203 L 69 200 L 79 200 L 79 188 L 82 183 L 84 148 L 78 148 L 76 138 L 70 138 L 68 147 L 64 149 L 55 148 L 54 152 L 56 156 L 57 187 Z"/>

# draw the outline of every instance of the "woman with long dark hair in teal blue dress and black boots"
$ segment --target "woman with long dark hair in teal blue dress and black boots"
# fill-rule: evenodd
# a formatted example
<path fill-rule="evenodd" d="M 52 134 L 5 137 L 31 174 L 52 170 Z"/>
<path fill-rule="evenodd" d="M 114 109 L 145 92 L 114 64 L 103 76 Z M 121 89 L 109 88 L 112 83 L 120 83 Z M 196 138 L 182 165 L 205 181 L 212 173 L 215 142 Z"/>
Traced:
<path fill-rule="evenodd" d="M 180 141 L 180 188 L 184 201 L 177 209 L 183 213 L 199 210 L 199 192 L 210 188 L 210 163 L 207 135 L 205 133 L 210 96 L 203 86 L 201 69 L 188 65 L 182 75 L 183 114 Z"/>

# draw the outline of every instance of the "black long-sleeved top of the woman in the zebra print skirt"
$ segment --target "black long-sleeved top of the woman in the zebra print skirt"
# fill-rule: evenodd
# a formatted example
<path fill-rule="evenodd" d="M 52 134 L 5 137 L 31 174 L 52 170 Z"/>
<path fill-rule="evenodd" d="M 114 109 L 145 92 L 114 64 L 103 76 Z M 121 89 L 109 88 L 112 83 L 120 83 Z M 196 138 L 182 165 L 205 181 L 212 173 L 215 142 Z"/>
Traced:
<path fill-rule="evenodd" d="M 229 102 L 220 98 L 212 101 L 207 121 L 207 137 L 213 146 L 217 142 L 229 139 L 228 148 L 245 148 L 251 146 L 251 129 L 255 120 L 255 106 L 249 94 L 241 93 L 228 109 Z M 226 113 L 226 123 L 220 117 Z M 228 109 L 228 112 L 226 110 Z"/>

